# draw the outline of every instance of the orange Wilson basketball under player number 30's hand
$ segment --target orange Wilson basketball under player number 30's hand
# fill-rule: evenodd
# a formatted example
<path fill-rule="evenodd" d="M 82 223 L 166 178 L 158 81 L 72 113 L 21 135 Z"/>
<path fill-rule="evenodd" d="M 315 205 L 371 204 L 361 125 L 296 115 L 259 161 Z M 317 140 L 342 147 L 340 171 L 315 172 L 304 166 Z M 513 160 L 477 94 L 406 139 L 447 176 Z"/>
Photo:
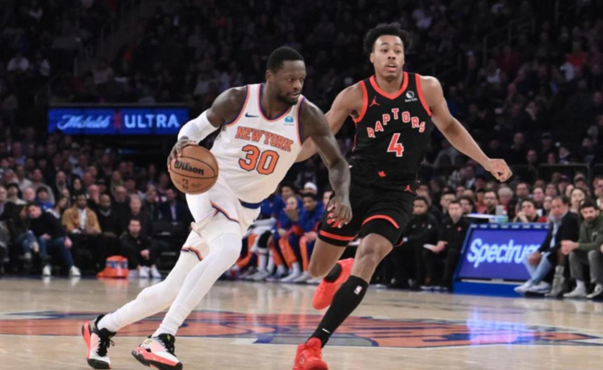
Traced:
<path fill-rule="evenodd" d="M 182 148 L 182 156 L 172 159 L 169 176 L 186 194 L 205 193 L 218 180 L 218 162 L 212 152 L 198 145 Z"/>

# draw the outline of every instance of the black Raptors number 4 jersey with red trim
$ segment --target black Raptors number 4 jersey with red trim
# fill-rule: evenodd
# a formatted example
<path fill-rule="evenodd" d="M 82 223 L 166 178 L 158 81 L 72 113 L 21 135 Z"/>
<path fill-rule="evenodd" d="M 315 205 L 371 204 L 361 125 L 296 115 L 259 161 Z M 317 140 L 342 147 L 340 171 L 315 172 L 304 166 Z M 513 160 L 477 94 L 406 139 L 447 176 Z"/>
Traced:
<path fill-rule="evenodd" d="M 402 87 L 390 95 L 374 75 L 359 82 L 364 105 L 356 123 L 350 159 L 352 180 L 376 187 L 408 190 L 414 185 L 434 127 L 423 98 L 420 75 L 403 72 Z"/>

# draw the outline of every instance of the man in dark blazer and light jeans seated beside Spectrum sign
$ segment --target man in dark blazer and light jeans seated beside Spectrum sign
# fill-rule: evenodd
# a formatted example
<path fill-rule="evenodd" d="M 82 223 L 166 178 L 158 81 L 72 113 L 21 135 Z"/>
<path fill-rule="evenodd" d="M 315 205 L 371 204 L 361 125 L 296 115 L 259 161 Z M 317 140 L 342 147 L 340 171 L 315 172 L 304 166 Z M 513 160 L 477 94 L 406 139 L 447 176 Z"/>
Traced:
<path fill-rule="evenodd" d="M 515 288 L 517 293 L 548 293 L 550 291 L 554 296 L 562 293 L 565 258 L 563 255 L 560 256 L 561 241 L 578 240 L 579 220 L 578 215 L 569 211 L 569 199 L 565 196 L 555 196 L 552 200 L 550 219 L 549 231 L 545 240 L 538 250 L 529 254 L 524 261 L 530 279 Z M 555 265 L 557 267 L 555 267 L 555 277 L 551 289 L 551 285 L 545 279 Z"/>

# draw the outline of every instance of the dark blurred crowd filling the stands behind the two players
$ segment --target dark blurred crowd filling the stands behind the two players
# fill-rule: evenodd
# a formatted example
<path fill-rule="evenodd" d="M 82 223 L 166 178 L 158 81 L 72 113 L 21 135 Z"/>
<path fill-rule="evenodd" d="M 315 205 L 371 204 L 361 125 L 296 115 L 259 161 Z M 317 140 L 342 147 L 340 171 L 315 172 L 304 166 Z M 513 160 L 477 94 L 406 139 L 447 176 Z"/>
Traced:
<path fill-rule="evenodd" d="M 434 132 L 421 166 L 416 220 L 406 233 L 411 243 L 461 244 L 442 228 L 449 222 L 466 228 L 461 216 L 469 213 L 551 222 L 555 196 L 566 196 L 579 218 L 585 199 L 597 209 L 603 203 L 601 1 L 2 4 L 0 265 L 11 273 L 93 273 L 121 254 L 133 275 L 159 276 L 189 230 L 191 215 L 165 168 L 175 137 L 48 133 L 49 105 L 180 102 L 196 116 L 220 92 L 264 80 L 268 54 L 288 45 L 306 59 L 303 94 L 326 112 L 339 91 L 372 73 L 362 37 L 385 21 L 411 33 L 405 69 L 440 78 L 450 112 L 488 156 L 506 159 L 515 173 L 496 183 Z M 348 157 L 353 131 L 350 120 L 336 136 Z M 262 209 L 272 224 L 260 222 L 250 232 L 230 276 L 307 281 L 327 182 L 320 158 L 296 164 Z M 428 224 L 432 234 L 413 234 Z M 458 256 L 440 256 L 438 269 L 434 256 L 409 257 L 407 250 L 395 251 L 376 281 L 449 287 Z M 433 276 L 440 270 L 443 276 Z"/>

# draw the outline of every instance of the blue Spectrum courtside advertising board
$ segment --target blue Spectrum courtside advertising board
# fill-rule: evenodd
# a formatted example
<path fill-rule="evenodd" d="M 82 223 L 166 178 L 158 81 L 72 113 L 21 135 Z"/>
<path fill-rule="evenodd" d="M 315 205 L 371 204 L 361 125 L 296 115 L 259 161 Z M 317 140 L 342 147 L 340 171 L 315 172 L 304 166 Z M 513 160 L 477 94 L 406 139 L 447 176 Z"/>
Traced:
<path fill-rule="evenodd" d="M 471 225 L 456 278 L 527 280 L 523 261 L 540 247 L 547 232 L 546 223 Z"/>

